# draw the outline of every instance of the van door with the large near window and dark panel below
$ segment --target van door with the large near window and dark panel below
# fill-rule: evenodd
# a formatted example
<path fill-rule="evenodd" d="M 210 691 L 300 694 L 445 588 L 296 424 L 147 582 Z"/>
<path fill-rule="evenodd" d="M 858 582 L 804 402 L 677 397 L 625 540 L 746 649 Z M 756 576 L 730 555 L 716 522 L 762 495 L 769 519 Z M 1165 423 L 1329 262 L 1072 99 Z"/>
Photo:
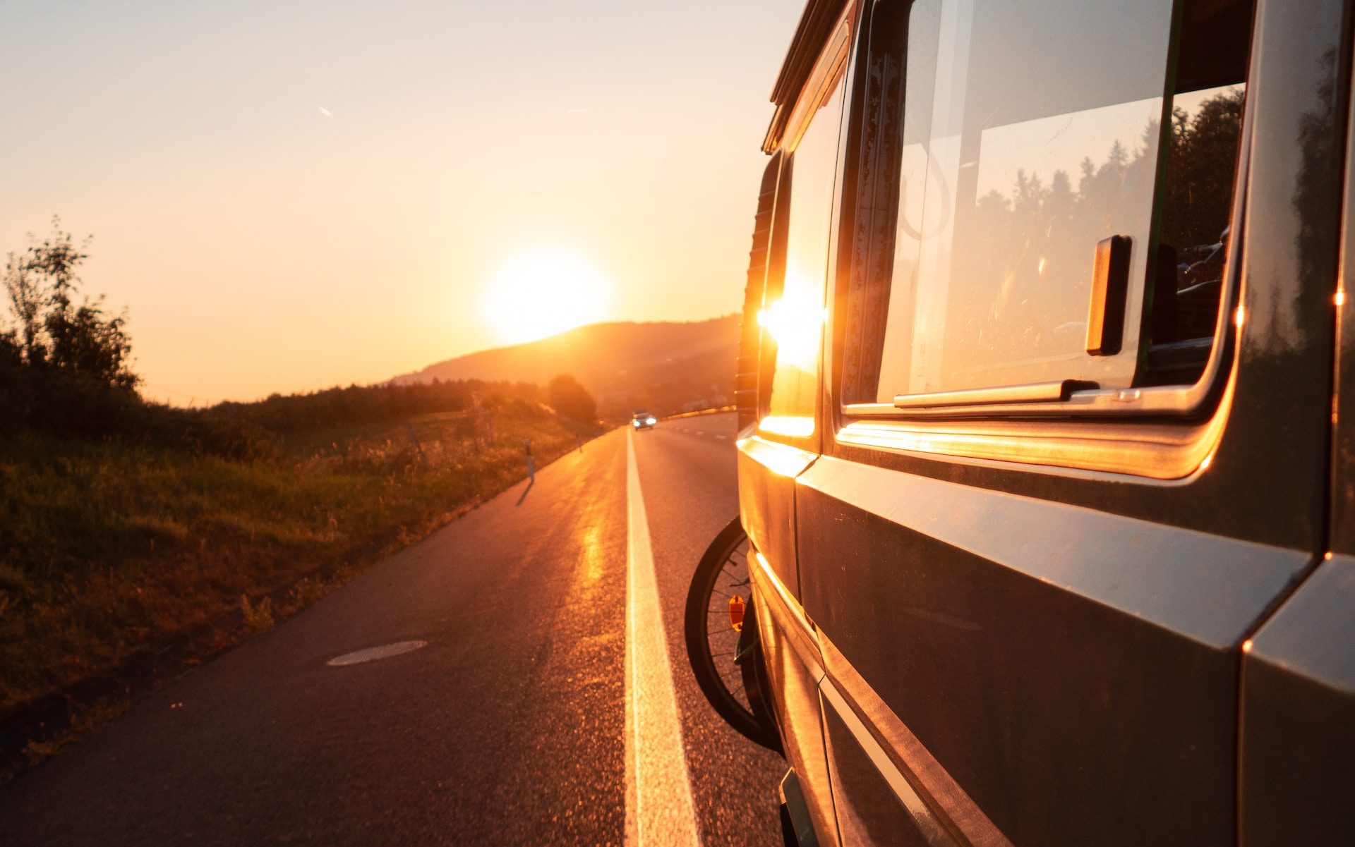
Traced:
<path fill-rule="evenodd" d="M 908 5 L 795 488 L 843 844 L 1236 842 L 1241 647 L 1324 543 L 1348 41 L 1255 14 Z"/>

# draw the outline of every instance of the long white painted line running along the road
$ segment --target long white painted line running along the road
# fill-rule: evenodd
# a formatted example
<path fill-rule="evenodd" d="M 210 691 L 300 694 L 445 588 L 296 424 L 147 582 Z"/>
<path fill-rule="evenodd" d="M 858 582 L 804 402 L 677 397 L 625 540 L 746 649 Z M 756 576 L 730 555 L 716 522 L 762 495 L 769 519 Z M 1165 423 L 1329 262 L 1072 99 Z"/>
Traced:
<path fill-rule="evenodd" d="M 701 844 L 635 441 L 626 430 L 626 846 Z"/>

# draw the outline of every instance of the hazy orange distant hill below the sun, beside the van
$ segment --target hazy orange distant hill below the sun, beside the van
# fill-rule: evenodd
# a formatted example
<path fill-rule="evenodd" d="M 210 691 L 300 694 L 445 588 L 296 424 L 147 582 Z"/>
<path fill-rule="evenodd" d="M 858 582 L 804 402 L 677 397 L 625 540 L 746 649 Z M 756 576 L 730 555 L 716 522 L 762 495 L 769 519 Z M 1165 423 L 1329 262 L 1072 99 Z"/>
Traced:
<path fill-rule="evenodd" d="M 603 417 L 722 406 L 734 395 L 738 315 L 678 323 L 618 321 L 481 350 L 397 376 L 396 383 L 484 379 L 545 384 L 572 373 Z"/>

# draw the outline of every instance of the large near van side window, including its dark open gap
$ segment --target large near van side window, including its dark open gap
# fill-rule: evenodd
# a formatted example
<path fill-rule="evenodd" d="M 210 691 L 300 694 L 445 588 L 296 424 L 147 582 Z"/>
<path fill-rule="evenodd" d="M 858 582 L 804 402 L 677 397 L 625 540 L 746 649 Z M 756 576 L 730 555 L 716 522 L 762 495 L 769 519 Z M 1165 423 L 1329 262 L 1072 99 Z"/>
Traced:
<path fill-rule="evenodd" d="M 1187 0 L 1169 73 L 1172 5 L 912 4 L 902 126 L 890 129 L 902 137 L 893 269 L 866 285 L 888 285 L 888 314 L 883 333 L 846 331 L 863 349 L 844 359 L 878 356 L 879 368 L 846 375 L 844 402 L 1198 379 L 1217 323 L 1251 3 Z M 1098 311 L 1107 273 L 1122 276 L 1119 318 Z M 863 288 L 854 280 L 854 295 Z M 1114 342 L 1093 344 L 1102 319 L 1122 322 Z"/>

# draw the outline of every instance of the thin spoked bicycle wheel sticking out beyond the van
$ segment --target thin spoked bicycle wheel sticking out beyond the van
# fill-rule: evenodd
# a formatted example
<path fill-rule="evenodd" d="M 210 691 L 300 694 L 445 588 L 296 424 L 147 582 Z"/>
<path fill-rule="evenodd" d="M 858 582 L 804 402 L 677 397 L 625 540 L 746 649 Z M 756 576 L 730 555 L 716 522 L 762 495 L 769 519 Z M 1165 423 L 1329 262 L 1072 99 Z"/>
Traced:
<path fill-rule="evenodd" d="M 696 683 L 715 713 L 749 740 L 780 752 L 764 701 L 748 549 L 738 518 L 706 548 L 687 590 L 683 635 Z M 736 662 L 741 649 L 743 660 Z"/>

